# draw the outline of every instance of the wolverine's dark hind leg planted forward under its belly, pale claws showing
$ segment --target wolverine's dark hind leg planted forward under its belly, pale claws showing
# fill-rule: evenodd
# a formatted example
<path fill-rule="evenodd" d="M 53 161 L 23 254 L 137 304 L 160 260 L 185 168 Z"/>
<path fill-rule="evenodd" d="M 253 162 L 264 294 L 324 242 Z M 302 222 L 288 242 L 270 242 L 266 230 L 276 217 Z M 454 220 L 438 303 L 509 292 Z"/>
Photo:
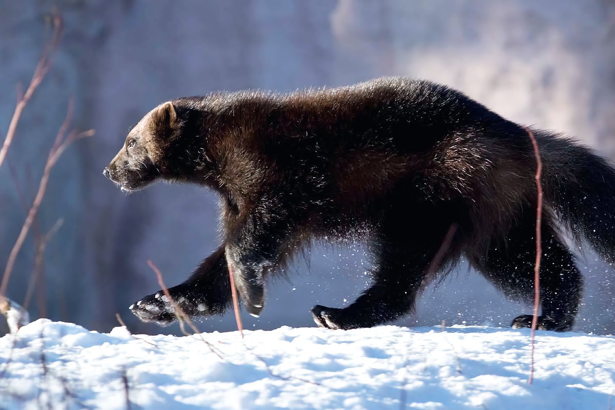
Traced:
<path fill-rule="evenodd" d="M 456 254 L 450 215 L 433 210 L 387 216 L 376 244 L 375 283 L 351 306 L 315 306 L 317 325 L 331 329 L 367 328 L 411 312 L 421 286 Z M 407 222 L 407 219 L 413 219 Z M 415 219 L 416 218 L 416 219 Z"/>

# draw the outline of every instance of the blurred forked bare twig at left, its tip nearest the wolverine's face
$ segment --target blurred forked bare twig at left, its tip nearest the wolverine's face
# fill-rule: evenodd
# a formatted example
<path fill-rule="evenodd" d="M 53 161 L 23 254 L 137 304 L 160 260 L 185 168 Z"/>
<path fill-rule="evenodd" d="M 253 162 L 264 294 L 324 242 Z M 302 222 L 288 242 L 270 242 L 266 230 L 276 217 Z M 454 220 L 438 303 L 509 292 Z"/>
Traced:
<path fill-rule="evenodd" d="M 2 283 L 0 285 L 0 296 L 4 296 L 6 294 L 6 288 L 9 284 L 10 273 L 15 264 L 15 259 L 17 259 L 17 254 L 22 248 L 23 241 L 26 239 L 28 232 L 30 231 L 30 227 L 34 221 L 34 217 L 38 212 L 39 207 L 41 206 L 42 199 L 45 197 L 45 192 L 47 189 L 47 183 L 49 182 L 50 171 L 54 167 L 55 163 L 58 161 L 62 153 L 69 146 L 69 144 L 73 143 L 80 138 L 84 138 L 87 136 L 94 135 L 93 130 L 88 130 L 82 133 L 77 133 L 75 131 L 69 133 L 65 138 L 66 130 L 70 123 L 71 117 L 73 115 L 73 100 L 69 100 L 68 111 L 66 112 L 66 118 L 58 131 L 58 135 L 55 137 L 54 146 L 52 146 L 49 151 L 49 156 L 47 157 L 47 162 L 45 164 L 45 168 L 43 170 L 43 174 L 41 177 L 41 181 L 39 182 L 38 192 L 36 192 L 36 197 L 34 197 L 34 202 L 32 203 L 32 207 L 30 211 L 28 211 L 28 216 L 26 216 L 26 220 L 23 223 L 22 230 L 15 241 L 15 245 L 9 254 L 9 260 L 7 261 L 6 268 L 4 269 L 4 274 L 2 275 Z"/>

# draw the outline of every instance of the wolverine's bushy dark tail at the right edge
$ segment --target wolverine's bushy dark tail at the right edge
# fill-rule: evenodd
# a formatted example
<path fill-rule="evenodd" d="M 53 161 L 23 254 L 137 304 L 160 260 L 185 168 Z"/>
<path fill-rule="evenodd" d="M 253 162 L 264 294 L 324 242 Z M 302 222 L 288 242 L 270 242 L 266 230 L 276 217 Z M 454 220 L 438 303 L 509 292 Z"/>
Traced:
<path fill-rule="evenodd" d="M 615 168 L 568 138 L 536 132 L 545 201 L 577 238 L 615 262 Z"/>

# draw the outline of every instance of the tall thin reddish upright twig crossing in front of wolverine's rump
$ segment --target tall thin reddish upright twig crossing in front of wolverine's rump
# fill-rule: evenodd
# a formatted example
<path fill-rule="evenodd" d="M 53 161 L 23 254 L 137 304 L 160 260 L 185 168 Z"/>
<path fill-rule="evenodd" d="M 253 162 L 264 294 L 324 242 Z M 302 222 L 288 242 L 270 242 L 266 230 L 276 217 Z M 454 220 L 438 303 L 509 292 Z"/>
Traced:
<path fill-rule="evenodd" d="M 532 332 L 531 332 L 531 359 L 530 359 L 530 378 L 528 384 L 532 384 L 534 379 L 534 339 L 536 338 L 536 325 L 538 324 L 538 305 L 540 303 L 540 262 L 542 255 L 542 184 L 540 181 L 542 173 L 542 161 L 540 151 L 538 151 L 538 142 L 534 137 L 534 133 L 530 128 L 525 128 L 532 140 L 534 147 L 534 157 L 536 157 L 536 189 L 538 190 L 538 204 L 536 205 L 536 263 L 534 264 L 534 316 L 532 317 Z"/>

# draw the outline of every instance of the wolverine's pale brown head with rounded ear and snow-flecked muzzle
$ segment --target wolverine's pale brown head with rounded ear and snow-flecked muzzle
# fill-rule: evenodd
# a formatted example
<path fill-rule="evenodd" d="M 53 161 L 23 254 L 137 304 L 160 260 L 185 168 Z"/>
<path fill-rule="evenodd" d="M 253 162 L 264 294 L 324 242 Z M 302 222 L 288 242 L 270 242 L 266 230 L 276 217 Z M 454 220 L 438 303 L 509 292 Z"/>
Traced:
<path fill-rule="evenodd" d="M 133 128 L 124 146 L 117 152 L 103 175 L 120 186 L 122 191 L 136 191 L 163 175 L 166 146 L 177 136 L 175 108 L 170 102 L 148 112 Z"/>

